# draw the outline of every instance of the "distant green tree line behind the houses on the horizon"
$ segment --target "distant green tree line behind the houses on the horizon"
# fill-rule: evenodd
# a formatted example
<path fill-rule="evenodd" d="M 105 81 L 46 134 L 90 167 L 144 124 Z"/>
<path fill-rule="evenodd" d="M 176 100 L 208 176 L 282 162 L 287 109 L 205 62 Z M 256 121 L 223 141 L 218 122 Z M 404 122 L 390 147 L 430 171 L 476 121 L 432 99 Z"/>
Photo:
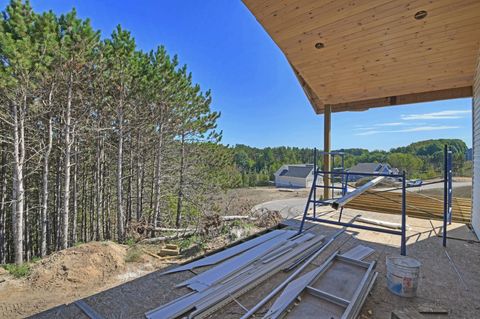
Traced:
<path fill-rule="evenodd" d="M 458 176 L 471 176 L 471 163 L 465 161 L 467 145 L 459 139 L 436 139 L 412 143 L 390 151 L 369 151 L 362 148 L 338 149 L 345 153 L 345 168 L 358 163 L 388 163 L 400 171 L 405 170 L 409 178 L 434 178 L 442 176 L 443 148 L 448 144 L 453 151 L 453 171 Z M 247 145 L 235 145 L 235 165 L 241 174 L 242 186 L 271 184 L 274 173 L 283 164 L 313 163 L 313 149 L 298 147 L 266 147 L 263 149 Z M 322 165 L 322 157 L 318 159 Z M 332 167 L 340 167 L 340 158 Z"/>

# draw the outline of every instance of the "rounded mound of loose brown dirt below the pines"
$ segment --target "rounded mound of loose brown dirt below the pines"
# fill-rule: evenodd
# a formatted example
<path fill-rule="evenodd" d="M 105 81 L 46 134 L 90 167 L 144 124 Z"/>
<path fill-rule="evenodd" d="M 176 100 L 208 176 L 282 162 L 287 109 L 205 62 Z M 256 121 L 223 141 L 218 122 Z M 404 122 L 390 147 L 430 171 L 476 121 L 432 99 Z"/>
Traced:
<path fill-rule="evenodd" d="M 91 242 L 54 253 L 36 263 L 29 281 L 35 287 L 101 285 L 125 269 L 126 247 Z"/>

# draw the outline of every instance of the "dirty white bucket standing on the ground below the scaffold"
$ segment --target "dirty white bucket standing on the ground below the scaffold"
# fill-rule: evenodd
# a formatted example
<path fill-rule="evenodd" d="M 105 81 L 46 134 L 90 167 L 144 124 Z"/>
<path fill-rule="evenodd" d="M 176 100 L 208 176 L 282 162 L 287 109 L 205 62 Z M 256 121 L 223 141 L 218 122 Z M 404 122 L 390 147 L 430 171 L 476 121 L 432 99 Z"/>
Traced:
<path fill-rule="evenodd" d="M 421 265 L 411 257 L 387 257 L 388 289 L 402 297 L 415 297 Z"/>

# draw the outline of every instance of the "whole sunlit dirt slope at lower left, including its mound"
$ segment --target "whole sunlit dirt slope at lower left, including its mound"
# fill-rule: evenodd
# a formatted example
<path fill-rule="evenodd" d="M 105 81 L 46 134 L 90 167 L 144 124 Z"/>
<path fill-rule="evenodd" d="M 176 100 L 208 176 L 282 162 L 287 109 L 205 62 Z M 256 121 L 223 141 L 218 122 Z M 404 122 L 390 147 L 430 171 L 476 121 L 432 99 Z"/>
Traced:
<path fill-rule="evenodd" d="M 23 318 L 73 302 L 161 267 L 161 261 L 141 256 L 126 263 L 128 246 L 91 242 L 35 263 L 28 278 L 0 273 L 0 318 Z M 3 268 L 2 268 L 3 269 Z"/>

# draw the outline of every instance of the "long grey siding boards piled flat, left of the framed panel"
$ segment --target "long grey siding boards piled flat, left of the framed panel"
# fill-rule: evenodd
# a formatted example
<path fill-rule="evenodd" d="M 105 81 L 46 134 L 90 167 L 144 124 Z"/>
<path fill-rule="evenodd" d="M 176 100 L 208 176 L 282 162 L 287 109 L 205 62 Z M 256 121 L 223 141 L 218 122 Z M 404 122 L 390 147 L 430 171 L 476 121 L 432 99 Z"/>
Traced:
<path fill-rule="evenodd" d="M 181 283 L 193 291 L 147 312 L 149 319 L 185 316 L 202 318 L 230 302 L 270 276 L 298 262 L 312 247 L 319 247 L 324 236 L 279 230 L 278 236 L 231 256 L 213 268 Z M 228 250 L 227 250 L 228 251 Z M 230 255 L 224 251 L 224 255 Z M 213 255 L 212 255 L 213 256 Z M 189 268 L 186 268 L 189 269 Z"/>

